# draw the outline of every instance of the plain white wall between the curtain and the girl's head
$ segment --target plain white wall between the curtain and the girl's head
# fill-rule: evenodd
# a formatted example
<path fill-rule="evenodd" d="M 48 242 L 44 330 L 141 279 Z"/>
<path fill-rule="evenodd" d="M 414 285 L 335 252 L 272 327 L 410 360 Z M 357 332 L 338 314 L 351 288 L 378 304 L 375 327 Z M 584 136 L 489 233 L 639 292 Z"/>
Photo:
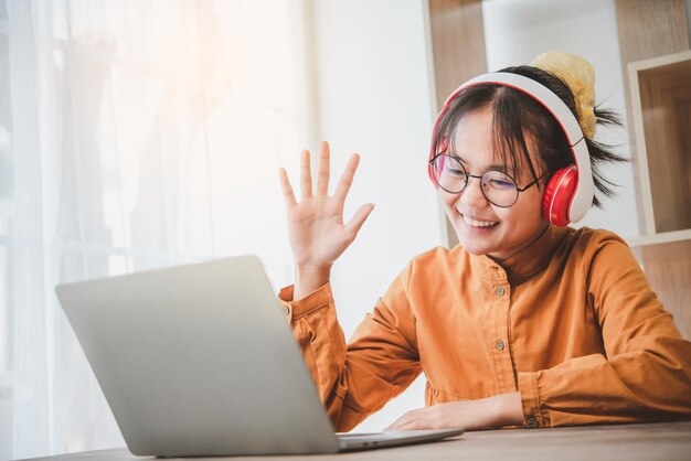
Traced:
<path fill-rule="evenodd" d="M 316 1 L 315 23 L 318 136 L 331 143 L 332 174 L 340 176 L 351 152 L 362 157 L 346 219 L 360 205 L 375 204 L 332 275 L 350 337 L 407 261 L 442 244 L 426 170 L 433 120 L 423 1 Z M 381 430 L 423 406 L 418 379 L 357 430 Z"/>

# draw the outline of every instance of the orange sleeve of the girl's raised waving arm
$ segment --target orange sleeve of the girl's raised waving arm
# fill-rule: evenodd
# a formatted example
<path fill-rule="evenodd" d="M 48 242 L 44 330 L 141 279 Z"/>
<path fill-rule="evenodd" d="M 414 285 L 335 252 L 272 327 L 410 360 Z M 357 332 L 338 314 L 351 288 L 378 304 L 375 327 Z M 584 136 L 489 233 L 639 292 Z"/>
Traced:
<path fill-rule="evenodd" d="M 336 315 L 329 283 L 293 301 L 279 293 L 294 336 L 337 431 L 354 428 L 401 394 L 421 373 L 415 319 L 402 272 L 355 330 L 350 344 Z"/>

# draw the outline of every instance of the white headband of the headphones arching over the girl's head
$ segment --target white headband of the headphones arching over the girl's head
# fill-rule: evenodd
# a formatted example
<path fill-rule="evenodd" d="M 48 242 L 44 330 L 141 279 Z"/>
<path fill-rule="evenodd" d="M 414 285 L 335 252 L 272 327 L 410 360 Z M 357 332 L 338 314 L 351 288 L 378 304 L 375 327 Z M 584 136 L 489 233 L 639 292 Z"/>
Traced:
<path fill-rule="evenodd" d="M 591 170 L 591 156 L 588 153 L 587 144 L 585 143 L 585 137 L 583 136 L 578 120 L 564 101 L 546 86 L 533 81 L 532 78 L 508 72 L 492 72 L 489 74 L 478 75 L 477 77 L 464 83 L 454 93 L 451 93 L 451 95 L 446 99 L 446 103 L 444 103 L 444 107 L 434 122 L 433 141 L 436 136 L 439 121 L 448 111 L 451 101 L 456 99 L 456 97 L 464 89 L 478 85 L 501 85 L 518 89 L 540 103 L 560 124 L 564 135 L 566 136 L 568 146 L 571 147 L 577 170 L 575 190 L 573 196 L 571 197 L 571 203 L 568 204 L 568 221 L 581 221 L 593 204 L 593 196 L 595 193 L 595 184 L 593 183 L 593 173 Z M 434 156 L 435 152 L 433 144 L 429 148 L 429 159 L 432 160 Z M 432 167 L 429 167 L 428 171 L 432 176 Z"/>

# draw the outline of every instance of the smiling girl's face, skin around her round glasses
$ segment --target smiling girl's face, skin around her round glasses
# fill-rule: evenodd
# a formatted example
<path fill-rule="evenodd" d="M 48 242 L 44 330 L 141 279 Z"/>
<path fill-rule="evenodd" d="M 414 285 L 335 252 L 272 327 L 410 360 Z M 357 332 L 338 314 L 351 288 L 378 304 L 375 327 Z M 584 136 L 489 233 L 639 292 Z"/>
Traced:
<path fill-rule="evenodd" d="M 490 108 L 480 109 L 464 116 L 456 137 L 456 152 L 466 171 L 481 175 L 488 170 L 502 170 L 511 174 L 510 165 L 497 165 L 492 156 L 492 114 Z M 536 149 L 528 138 L 531 160 L 538 176 L 541 170 Z M 515 178 L 519 187 L 533 181 L 528 165 L 521 165 L 522 178 Z M 542 184 L 541 184 L 542 185 Z M 474 255 L 487 255 L 504 260 L 532 242 L 545 229 L 548 222 L 542 217 L 542 191 L 536 184 L 519 194 L 518 201 L 508 208 L 492 205 L 480 190 L 480 180 L 470 178 L 460 194 L 450 194 L 438 189 L 459 243 Z"/>

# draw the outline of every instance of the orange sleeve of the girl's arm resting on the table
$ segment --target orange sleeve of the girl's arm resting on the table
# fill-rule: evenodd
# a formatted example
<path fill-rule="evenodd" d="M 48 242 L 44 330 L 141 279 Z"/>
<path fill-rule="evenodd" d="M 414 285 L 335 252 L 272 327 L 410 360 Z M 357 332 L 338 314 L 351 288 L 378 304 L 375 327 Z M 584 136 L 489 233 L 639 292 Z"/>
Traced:
<path fill-rule="evenodd" d="M 520 373 L 528 427 L 691 419 L 684 341 L 620 240 L 597 244 L 585 274 L 605 354 Z"/>

